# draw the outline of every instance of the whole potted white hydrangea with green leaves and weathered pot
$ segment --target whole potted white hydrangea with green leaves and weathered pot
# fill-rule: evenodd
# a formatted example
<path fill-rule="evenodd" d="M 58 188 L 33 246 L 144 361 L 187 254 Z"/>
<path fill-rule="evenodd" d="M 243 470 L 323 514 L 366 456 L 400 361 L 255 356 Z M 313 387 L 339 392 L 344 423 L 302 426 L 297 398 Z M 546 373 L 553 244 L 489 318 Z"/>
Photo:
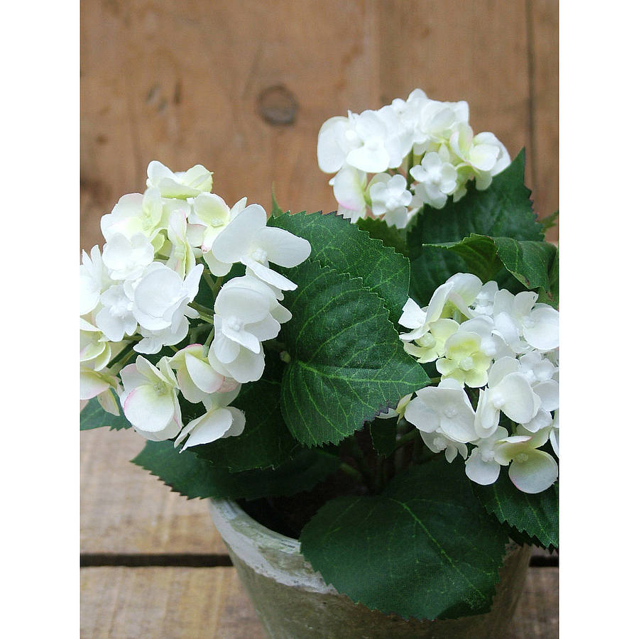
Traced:
<path fill-rule="evenodd" d="M 558 252 L 465 102 L 320 129 L 337 212 L 148 166 L 83 254 L 81 428 L 210 498 L 276 637 L 506 633 L 558 547 Z"/>

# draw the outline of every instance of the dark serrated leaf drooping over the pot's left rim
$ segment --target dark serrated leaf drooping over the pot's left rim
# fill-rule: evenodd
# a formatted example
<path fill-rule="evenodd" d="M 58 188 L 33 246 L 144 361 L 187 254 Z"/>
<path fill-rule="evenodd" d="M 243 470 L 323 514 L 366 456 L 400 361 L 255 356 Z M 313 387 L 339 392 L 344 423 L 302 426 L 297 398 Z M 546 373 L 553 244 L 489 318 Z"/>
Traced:
<path fill-rule="evenodd" d="M 186 450 L 178 453 L 173 442 L 146 442 L 132 459 L 161 479 L 172 491 L 196 497 L 257 499 L 288 496 L 310 490 L 339 468 L 339 459 L 318 450 L 305 450 L 276 469 L 231 473 Z"/>

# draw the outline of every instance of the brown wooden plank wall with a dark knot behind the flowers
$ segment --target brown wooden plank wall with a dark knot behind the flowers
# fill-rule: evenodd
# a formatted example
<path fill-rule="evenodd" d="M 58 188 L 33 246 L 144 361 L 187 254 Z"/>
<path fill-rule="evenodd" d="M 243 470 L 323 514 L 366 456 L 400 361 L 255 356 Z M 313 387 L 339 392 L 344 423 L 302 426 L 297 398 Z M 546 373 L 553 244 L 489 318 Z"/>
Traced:
<path fill-rule="evenodd" d="M 202 163 L 214 192 L 335 208 L 317 168 L 330 116 L 406 97 L 466 99 L 475 131 L 528 151 L 558 206 L 557 0 L 82 0 L 80 245 L 144 189 L 146 165 Z M 549 234 L 557 239 L 557 229 Z"/>

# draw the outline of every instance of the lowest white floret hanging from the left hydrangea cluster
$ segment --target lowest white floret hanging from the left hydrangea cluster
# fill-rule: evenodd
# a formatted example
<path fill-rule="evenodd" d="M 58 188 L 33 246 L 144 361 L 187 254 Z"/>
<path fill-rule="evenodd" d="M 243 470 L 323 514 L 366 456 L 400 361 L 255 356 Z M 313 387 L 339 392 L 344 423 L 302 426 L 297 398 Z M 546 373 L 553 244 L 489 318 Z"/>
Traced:
<path fill-rule="evenodd" d="M 207 412 L 201 417 L 189 422 L 175 439 L 177 448 L 182 442 L 185 444 L 180 452 L 191 446 L 210 444 L 224 437 L 237 437 L 244 432 L 246 417 L 238 408 L 229 406 L 240 391 L 237 386 L 233 391 L 226 393 L 213 393 L 205 400 Z"/>

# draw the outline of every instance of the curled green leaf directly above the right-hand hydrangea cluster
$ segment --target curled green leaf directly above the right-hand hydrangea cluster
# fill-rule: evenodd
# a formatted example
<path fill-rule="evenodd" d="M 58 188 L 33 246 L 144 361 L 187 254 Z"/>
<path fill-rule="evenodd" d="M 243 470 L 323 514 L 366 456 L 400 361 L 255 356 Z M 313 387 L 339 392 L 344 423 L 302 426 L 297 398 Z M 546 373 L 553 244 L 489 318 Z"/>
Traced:
<path fill-rule="evenodd" d="M 559 295 L 558 278 L 551 277 L 553 268 L 558 268 L 557 248 L 548 242 L 473 233 L 459 242 L 425 246 L 456 253 L 483 282 L 496 278 L 503 265 L 526 288 L 543 289 L 550 300 Z"/>

